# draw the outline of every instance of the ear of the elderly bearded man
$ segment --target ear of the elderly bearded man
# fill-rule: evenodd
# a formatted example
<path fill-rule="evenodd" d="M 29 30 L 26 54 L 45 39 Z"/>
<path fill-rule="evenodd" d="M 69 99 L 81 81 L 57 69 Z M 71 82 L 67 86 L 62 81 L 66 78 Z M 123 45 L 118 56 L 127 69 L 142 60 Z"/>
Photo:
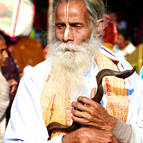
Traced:
<path fill-rule="evenodd" d="M 100 18 L 96 21 L 96 34 L 98 38 L 104 36 L 104 19 Z"/>

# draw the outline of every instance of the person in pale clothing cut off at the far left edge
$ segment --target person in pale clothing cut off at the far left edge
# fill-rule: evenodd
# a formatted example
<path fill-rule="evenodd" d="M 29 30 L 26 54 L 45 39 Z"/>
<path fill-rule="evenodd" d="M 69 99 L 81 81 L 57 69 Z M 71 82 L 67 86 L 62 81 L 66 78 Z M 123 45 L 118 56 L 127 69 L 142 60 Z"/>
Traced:
<path fill-rule="evenodd" d="M 5 112 L 9 106 L 9 84 L 2 75 L 1 68 L 5 65 L 8 58 L 7 46 L 5 39 L 0 35 L 0 142 L 5 133 L 6 118 Z"/>

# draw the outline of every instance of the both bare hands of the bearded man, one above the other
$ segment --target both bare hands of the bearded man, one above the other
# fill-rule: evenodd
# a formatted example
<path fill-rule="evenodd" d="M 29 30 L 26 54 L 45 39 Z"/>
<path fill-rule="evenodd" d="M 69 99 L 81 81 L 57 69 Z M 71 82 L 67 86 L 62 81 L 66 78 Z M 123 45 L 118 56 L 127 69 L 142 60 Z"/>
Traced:
<path fill-rule="evenodd" d="M 95 90 L 95 89 L 94 89 Z M 92 94 L 95 91 L 92 90 Z M 116 119 L 110 116 L 104 107 L 87 98 L 79 97 L 72 103 L 72 119 L 91 128 L 80 128 L 63 137 L 63 143 L 118 143 L 112 134 Z"/>

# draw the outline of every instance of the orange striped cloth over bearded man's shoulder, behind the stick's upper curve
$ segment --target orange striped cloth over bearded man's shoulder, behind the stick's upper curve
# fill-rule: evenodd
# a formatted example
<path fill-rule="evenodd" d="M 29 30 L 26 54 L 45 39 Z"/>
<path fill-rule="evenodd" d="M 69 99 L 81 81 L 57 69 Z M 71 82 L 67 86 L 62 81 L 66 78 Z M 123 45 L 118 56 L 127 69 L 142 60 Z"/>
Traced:
<path fill-rule="evenodd" d="M 116 64 L 102 54 L 97 54 L 96 62 L 99 70 L 108 68 L 119 71 Z M 103 79 L 103 83 L 107 95 L 108 113 L 125 122 L 128 115 L 129 98 L 124 80 L 108 76 Z"/>

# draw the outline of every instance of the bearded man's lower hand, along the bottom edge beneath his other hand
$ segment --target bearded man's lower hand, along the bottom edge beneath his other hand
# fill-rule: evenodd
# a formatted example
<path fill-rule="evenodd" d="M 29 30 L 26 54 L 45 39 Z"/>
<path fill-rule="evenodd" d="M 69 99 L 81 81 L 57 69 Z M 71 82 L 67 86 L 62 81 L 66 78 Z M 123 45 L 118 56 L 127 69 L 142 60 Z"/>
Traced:
<path fill-rule="evenodd" d="M 116 139 L 114 139 L 116 140 Z M 80 128 L 63 137 L 63 143 L 118 143 L 110 131 L 96 128 Z"/>

